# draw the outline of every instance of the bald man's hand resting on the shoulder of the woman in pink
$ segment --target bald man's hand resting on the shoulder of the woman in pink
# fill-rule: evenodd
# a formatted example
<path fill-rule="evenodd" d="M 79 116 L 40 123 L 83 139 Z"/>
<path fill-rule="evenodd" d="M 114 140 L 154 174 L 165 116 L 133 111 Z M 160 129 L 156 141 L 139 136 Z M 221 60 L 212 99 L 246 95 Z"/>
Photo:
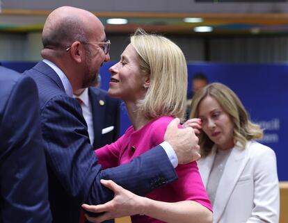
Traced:
<path fill-rule="evenodd" d="M 173 119 L 167 127 L 164 140 L 174 149 L 179 164 L 186 164 L 198 160 L 200 147 L 198 137 L 191 127 L 178 129 L 179 119 Z"/>

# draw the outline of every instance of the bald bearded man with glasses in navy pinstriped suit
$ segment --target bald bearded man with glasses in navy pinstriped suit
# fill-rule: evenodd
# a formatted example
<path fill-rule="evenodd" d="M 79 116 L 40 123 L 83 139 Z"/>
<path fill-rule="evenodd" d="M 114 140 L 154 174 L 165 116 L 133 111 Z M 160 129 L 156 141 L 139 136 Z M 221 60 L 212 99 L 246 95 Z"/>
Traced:
<path fill-rule="evenodd" d="M 81 204 L 113 199 L 113 192 L 102 187 L 100 179 L 111 179 L 131 192 L 145 195 L 176 180 L 173 167 L 177 163 L 199 158 L 193 129 L 177 129 L 177 122 L 173 122 L 166 132 L 166 142 L 131 163 L 102 170 L 81 107 L 72 94 L 94 83 L 99 67 L 110 59 L 104 26 L 86 10 L 57 8 L 45 22 L 42 43 L 45 60 L 24 74 L 38 85 L 54 222 L 78 223 Z"/>

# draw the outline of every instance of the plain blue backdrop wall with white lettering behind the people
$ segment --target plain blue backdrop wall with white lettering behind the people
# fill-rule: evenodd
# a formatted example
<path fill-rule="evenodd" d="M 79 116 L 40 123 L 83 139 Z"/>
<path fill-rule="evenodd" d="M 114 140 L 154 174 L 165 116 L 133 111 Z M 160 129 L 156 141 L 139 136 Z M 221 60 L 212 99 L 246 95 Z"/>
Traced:
<path fill-rule="evenodd" d="M 3 66 L 19 72 L 29 69 L 35 63 L 2 63 Z M 105 63 L 100 69 L 102 88 L 108 90 L 109 67 Z M 280 181 L 288 181 L 286 158 L 288 158 L 288 65 L 239 65 L 193 63 L 188 65 L 189 90 L 193 74 L 205 73 L 209 82 L 218 81 L 228 85 L 237 93 L 250 113 L 253 122 L 262 125 L 263 144 L 271 147 L 278 159 Z M 125 106 L 122 106 L 121 133 L 130 125 Z M 269 165 L 269 163 L 267 163 Z"/>

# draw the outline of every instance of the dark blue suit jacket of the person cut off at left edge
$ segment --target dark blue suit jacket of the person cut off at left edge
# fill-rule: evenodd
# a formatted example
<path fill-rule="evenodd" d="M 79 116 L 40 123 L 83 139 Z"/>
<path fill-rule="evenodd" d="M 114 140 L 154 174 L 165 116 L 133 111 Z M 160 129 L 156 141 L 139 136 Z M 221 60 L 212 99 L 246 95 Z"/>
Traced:
<path fill-rule="evenodd" d="M 51 222 L 35 82 L 0 67 L 0 222 Z"/>

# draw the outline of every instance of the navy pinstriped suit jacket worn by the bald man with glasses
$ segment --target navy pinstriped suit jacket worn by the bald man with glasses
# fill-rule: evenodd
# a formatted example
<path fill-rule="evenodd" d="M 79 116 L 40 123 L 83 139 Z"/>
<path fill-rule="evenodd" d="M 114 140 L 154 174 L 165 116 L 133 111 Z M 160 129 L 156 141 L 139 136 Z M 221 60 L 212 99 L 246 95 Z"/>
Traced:
<path fill-rule="evenodd" d="M 65 94 L 61 79 L 54 70 L 40 62 L 24 74 L 31 76 L 38 85 L 54 222 L 78 223 L 81 204 L 111 200 L 113 193 L 102 187 L 100 179 L 111 179 L 138 195 L 145 195 L 177 179 L 160 146 L 131 163 L 101 170 L 89 142 L 81 107 L 77 100 Z"/>

